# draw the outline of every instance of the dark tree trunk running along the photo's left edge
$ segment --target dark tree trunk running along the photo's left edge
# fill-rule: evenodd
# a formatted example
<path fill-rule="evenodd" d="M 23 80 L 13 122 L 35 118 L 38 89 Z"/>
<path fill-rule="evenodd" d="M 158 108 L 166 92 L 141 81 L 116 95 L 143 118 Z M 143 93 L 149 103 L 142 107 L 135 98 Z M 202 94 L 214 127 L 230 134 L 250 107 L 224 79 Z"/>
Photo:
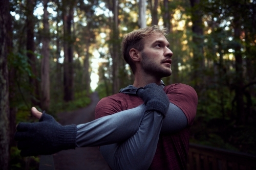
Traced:
<path fill-rule="evenodd" d="M 7 22 L 9 1 L 0 2 L 0 167 L 9 169 L 10 162 L 10 125 L 9 125 L 9 86 L 7 67 Z"/>

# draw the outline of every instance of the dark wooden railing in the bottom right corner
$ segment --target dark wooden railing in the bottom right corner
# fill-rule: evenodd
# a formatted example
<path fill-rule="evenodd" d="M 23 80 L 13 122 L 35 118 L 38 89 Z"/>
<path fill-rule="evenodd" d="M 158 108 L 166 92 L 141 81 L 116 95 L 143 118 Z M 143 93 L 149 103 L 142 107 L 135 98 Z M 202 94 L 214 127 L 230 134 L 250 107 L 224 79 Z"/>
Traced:
<path fill-rule="evenodd" d="M 187 170 L 256 170 L 256 156 L 190 143 Z"/>

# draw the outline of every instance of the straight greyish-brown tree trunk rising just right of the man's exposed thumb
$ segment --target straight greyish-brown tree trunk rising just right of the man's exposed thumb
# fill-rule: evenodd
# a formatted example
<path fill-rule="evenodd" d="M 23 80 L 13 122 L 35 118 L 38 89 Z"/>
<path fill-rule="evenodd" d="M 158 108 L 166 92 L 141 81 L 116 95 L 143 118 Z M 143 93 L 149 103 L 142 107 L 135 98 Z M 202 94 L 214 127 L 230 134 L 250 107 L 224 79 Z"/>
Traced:
<path fill-rule="evenodd" d="M 41 109 L 48 110 L 50 105 L 50 59 L 49 59 L 49 22 L 47 11 L 48 0 L 44 0 L 44 29 L 42 37 L 42 63 L 41 63 Z"/>

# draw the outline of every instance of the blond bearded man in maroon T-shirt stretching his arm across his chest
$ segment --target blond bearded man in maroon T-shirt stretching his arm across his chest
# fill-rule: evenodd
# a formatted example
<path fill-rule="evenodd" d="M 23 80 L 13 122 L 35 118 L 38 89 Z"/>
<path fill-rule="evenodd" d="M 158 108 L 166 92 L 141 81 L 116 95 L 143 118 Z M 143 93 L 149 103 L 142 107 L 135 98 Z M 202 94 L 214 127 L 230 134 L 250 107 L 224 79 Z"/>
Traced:
<path fill-rule="evenodd" d="M 172 74 L 173 53 L 165 35 L 165 29 L 153 26 L 123 38 L 123 57 L 134 73 L 134 84 L 103 98 L 93 122 L 61 126 L 46 113 L 32 111 L 39 123 L 17 126 L 21 154 L 100 145 L 112 169 L 185 169 L 197 94 L 190 86 L 164 87 L 161 82 Z"/>

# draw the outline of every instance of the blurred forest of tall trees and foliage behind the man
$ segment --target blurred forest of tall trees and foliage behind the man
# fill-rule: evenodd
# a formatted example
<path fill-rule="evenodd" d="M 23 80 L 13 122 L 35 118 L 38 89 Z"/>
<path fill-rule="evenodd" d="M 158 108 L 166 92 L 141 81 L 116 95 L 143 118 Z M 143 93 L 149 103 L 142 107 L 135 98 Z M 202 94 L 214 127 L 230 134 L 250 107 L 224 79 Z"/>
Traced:
<path fill-rule="evenodd" d="M 255 155 L 255 0 L 2 0 L 0 167 L 26 164 L 13 134 L 32 106 L 54 116 L 133 84 L 122 37 L 153 25 L 174 53 L 164 83 L 198 94 L 190 142 Z"/>

